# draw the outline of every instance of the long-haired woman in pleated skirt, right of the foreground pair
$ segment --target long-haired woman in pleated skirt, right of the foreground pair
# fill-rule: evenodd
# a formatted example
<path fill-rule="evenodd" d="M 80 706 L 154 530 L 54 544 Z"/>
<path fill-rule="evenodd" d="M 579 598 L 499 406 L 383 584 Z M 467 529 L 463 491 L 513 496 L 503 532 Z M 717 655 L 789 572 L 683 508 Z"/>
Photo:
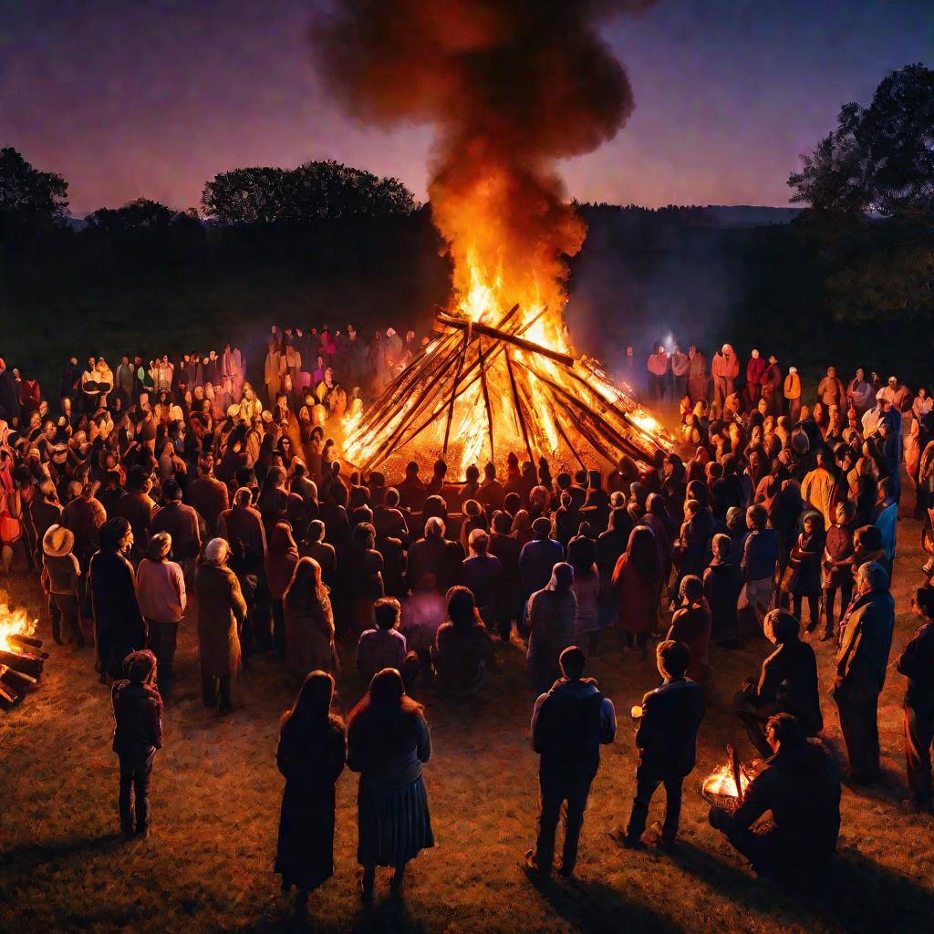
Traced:
<path fill-rule="evenodd" d="M 405 867 L 434 846 L 422 764 L 432 755 L 432 734 L 421 704 L 405 693 L 394 668 L 376 672 L 370 689 L 347 718 L 347 765 L 358 771 L 361 894 L 373 899 L 377 866 L 390 866 L 393 894 L 402 891 Z"/>

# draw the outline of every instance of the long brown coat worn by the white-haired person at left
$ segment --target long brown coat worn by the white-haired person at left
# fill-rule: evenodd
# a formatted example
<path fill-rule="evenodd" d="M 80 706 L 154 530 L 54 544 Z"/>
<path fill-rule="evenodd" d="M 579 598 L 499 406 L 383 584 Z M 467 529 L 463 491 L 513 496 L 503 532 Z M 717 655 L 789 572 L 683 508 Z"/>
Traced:
<path fill-rule="evenodd" d="M 240 670 L 239 628 L 247 603 L 230 568 L 202 564 L 194 575 L 198 598 L 198 652 L 201 671 L 209 677 L 230 677 Z"/>

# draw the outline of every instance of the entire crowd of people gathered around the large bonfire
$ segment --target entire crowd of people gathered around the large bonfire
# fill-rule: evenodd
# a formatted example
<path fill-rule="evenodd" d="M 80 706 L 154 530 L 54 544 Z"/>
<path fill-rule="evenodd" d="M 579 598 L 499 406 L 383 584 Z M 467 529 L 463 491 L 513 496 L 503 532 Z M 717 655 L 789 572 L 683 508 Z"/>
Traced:
<path fill-rule="evenodd" d="M 661 399 L 671 379 L 683 400 L 680 452 L 624 456 L 605 474 L 510 455 L 504 472 L 489 463 L 452 479 L 438 461 L 422 476 L 413 461 L 402 476 L 364 476 L 341 463 L 325 428 L 386 385 L 415 335 L 357 342 L 351 327 L 333 338 L 274 328 L 268 407 L 232 347 L 149 367 L 124 357 L 113 372 L 73 359 L 55 414 L 0 361 L 3 566 L 41 574 L 55 642 L 93 646 L 111 685 L 124 833 L 149 833 L 149 778 L 193 592 L 205 707 L 233 709 L 236 676 L 258 653 L 276 653 L 301 682 L 277 754 L 284 891 L 304 898 L 333 872 L 345 765 L 361 774 L 363 898 L 379 866 L 400 891 L 406 864 L 433 844 L 420 686 L 475 696 L 495 677 L 498 642 L 524 645 L 541 756 L 530 872 L 552 871 L 564 803 L 558 866 L 573 873 L 600 745 L 614 740 L 613 704 L 584 677 L 587 658 L 618 645 L 648 659 L 650 640 L 658 678 L 646 672 L 645 686 L 658 686 L 641 705 L 635 799 L 616 842 L 642 845 L 660 785 L 660 842 L 675 842 L 717 658 L 764 639 L 774 651 L 734 707 L 765 764 L 743 806 L 715 808 L 711 823 L 763 874 L 831 856 L 840 781 L 819 739 L 814 643 L 831 644 L 851 778 L 874 782 L 903 465 L 919 517 L 934 506 L 927 393 L 894 377 L 876 388 L 862 371 L 844 387 L 831 367 L 801 404 L 794 368 L 783 377 L 773 356 L 754 351 L 740 388 L 729 345 L 710 370 L 696 347 L 686 362 L 659 347 L 651 389 Z M 932 595 L 929 581 L 917 588 L 920 629 L 899 658 L 911 799 L 926 810 Z M 361 678 L 346 724 L 333 712 L 338 645 Z M 803 785 L 809 794 L 795 794 Z M 767 811 L 771 831 L 753 833 Z"/>

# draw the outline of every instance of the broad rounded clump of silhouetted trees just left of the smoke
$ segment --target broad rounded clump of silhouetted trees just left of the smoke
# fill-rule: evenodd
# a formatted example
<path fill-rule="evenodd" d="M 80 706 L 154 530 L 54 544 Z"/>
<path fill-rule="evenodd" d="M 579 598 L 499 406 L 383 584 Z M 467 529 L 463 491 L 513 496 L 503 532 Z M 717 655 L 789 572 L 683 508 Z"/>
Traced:
<path fill-rule="evenodd" d="M 205 184 L 201 204 L 220 224 L 407 216 L 418 206 L 397 178 L 378 178 L 333 160 L 221 172 Z"/>

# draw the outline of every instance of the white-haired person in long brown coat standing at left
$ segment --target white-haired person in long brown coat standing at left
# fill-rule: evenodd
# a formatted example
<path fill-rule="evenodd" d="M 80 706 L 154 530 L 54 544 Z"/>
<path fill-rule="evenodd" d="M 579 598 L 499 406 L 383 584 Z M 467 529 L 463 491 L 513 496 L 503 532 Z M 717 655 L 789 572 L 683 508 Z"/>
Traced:
<path fill-rule="evenodd" d="M 247 618 L 240 584 L 227 567 L 229 557 L 230 546 L 222 538 L 212 538 L 194 575 L 202 694 L 205 707 L 214 707 L 219 695 L 222 714 L 233 709 L 231 680 L 240 671 L 239 630 Z"/>

